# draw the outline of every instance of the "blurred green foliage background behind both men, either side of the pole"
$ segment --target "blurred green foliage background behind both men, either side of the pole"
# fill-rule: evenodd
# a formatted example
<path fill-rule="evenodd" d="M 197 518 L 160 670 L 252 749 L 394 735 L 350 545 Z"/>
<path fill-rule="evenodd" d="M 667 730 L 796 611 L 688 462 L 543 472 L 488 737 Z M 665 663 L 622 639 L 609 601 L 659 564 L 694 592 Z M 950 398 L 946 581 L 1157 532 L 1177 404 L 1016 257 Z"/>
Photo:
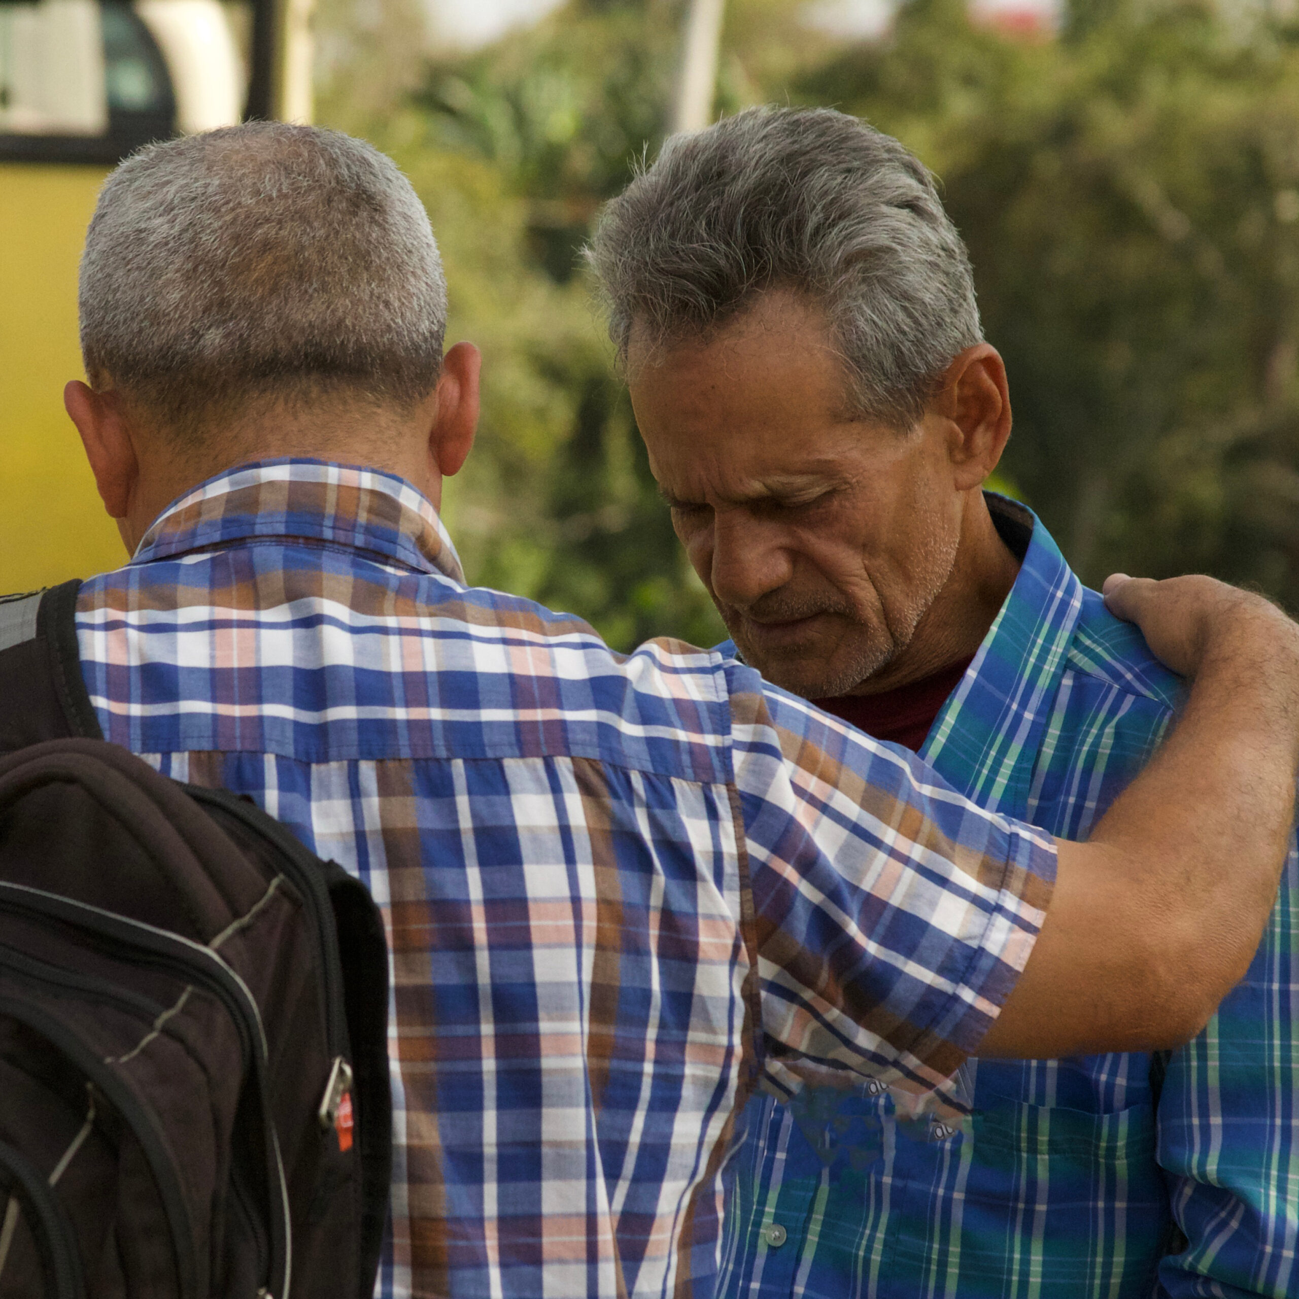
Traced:
<path fill-rule="evenodd" d="M 662 140 L 681 4 L 573 0 L 430 57 L 404 3 L 325 0 L 321 118 L 408 171 L 451 336 L 485 353 L 447 495 L 470 579 L 620 647 L 711 643 L 579 257 Z M 939 175 L 1011 374 L 1005 475 L 1074 566 L 1199 569 L 1299 607 L 1299 26 L 1074 0 L 1057 39 L 1025 40 L 911 0 L 889 39 L 847 44 L 799 13 L 730 0 L 716 108 L 834 105 Z"/>

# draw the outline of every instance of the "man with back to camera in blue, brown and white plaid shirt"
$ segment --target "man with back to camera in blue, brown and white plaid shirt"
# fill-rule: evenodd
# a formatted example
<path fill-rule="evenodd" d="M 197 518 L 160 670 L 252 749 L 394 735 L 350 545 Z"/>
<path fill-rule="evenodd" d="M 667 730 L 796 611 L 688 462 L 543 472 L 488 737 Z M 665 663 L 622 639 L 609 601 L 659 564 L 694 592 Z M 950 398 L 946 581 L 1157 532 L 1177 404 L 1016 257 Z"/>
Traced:
<path fill-rule="evenodd" d="M 131 552 L 77 599 L 100 729 L 383 909 L 381 1295 L 713 1294 L 764 1057 L 926 1091 L 979 1046 L 1204 1024 L 1285 859 L 1293 624 L 1207 578 L 1120 583 L 1195 686 L 1094 842 L 1056 840 L 752 666 L 614 655 L 468 586 L 438 503 L 478 353 L 444 325 L 392 162 L 249 123 L 109 178 L 65 394 Z"/>

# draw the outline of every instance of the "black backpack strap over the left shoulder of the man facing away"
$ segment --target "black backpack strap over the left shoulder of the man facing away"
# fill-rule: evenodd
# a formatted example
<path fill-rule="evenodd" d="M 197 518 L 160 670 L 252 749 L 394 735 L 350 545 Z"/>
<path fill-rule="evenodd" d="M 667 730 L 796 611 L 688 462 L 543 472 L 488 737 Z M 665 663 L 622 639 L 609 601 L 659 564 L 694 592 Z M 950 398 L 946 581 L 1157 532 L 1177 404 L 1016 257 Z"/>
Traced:
<path fill-rule="evenodd" d="M 0 598 L 0 753 L 47 739 L 103 739 L 77 648 L 73 579 Z"/>

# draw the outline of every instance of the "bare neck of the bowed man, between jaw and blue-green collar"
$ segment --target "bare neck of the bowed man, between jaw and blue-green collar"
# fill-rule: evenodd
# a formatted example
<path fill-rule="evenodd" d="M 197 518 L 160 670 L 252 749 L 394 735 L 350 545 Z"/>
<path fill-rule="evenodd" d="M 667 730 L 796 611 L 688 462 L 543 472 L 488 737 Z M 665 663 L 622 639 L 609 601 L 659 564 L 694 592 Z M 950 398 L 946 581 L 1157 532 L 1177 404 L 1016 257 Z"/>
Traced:
<path fill-rule="evenodd" d="M 1020 573 L 1002 540 L 982 491 L 972 491 L 961 516 L 956 561 L 908 644 L 850 695 L 878 695 L 924 681 L 972 657 L 992 626 Z"/>

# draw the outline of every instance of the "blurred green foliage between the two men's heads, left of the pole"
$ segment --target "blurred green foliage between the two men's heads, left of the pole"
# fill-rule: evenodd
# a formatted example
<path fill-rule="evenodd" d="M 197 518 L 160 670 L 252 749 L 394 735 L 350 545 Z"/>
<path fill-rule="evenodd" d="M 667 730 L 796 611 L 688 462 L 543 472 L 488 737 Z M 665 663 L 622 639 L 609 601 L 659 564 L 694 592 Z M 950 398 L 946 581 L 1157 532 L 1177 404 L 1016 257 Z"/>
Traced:
<path fill-rule="evenodd" d="M 724 634 L 579 269 L 600 204 L 662 139 L 677 18 L 659 0 L 582 0 L 487 51 L 422 61 L 413 94 L 375 105 L 356 91 L 361 60 L 401 44 L 381 29 L 321 96 L 323 121 L 410 175 L 442 244 L 451 335 L 483 349 L 478 446 L 446 503 L 472 581 L 578 612 L 620 648 Z"/>

